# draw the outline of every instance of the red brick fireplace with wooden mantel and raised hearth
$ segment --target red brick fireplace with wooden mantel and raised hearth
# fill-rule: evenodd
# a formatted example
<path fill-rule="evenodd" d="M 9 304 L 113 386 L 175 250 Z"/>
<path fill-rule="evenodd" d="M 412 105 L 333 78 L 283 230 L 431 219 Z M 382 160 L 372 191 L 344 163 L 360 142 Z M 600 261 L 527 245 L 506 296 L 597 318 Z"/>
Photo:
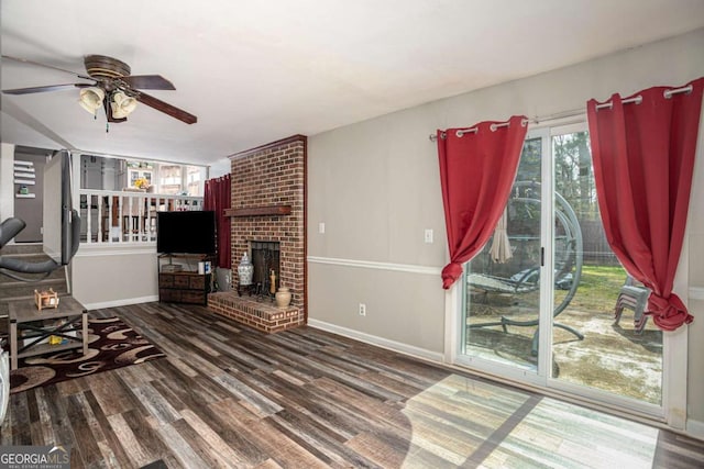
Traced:
<path fill-rule="evenodd" d="M 208 309 L 264 332 L 278 332 L 305 324 L 306 313 L 306 143 L 295 135 L 234 154 L 231 160 L 232 276 L 239 283 L 242 255 L 252 257 L 252 246 L 277 243 L 277 287 L 292 291 L 283 310 L 268 298 L 249 292 L 217 292 Z"/>

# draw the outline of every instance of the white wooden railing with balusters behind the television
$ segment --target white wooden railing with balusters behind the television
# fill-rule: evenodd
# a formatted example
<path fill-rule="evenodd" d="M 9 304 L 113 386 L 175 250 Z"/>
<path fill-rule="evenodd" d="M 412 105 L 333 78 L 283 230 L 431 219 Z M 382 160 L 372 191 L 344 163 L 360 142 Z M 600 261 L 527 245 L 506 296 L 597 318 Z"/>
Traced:
<path fill-rule="evenodd" d="M 156 212 L 202 210 L 202 197 L 80 189 L 80 243 L 156 242 Z"/>

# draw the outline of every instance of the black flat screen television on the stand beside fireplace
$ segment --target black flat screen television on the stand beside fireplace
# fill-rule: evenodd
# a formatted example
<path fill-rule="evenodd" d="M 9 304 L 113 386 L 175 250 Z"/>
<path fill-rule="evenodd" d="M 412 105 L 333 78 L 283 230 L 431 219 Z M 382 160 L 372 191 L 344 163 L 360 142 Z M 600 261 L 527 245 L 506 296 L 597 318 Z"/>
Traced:
<path fill-rule="evenodd" d="M 156 250 L 162 254 L 215 254 L 216 212 L 157 212 Z"/>

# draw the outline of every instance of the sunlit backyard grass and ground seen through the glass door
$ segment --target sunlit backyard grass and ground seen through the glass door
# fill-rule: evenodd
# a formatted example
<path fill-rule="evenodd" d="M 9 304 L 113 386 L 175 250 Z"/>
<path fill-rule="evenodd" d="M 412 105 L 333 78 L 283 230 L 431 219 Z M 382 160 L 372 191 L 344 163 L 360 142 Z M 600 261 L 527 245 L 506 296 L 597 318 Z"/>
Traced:
<path fill-rule="evenodd" d="M 660 403 L 662 379 L 662 333 L 648 322 L 642 333 L 632 324 L 632 311 L 625 311 L 614 323 L 614 308 L 627 273 L 620 266 L 582 267 L 574 298 L 556 317 L 584 335 L 553 328 L 552 378 L 601 389 L 617 395 Z M 568 292 L 554 290 L 554 304 Z M 497 324 L 502 316 L 518 321 L 536 320 L 539 291 L 524 294 L 471 292 L 468 301 L 466 345 L 472 353 L 490 359 L 507 360 L 535 368 L 531 349 L 536 326 Z"/>

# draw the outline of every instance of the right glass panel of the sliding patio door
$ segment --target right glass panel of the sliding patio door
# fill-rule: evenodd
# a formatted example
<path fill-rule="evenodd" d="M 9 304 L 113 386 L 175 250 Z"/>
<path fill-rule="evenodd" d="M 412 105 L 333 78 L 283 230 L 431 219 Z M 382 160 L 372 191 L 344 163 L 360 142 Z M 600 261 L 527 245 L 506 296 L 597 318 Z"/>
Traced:
<path fill-rule="evenodd" d="M 648 291 L 610 250 L 586 132 L 551 137 L 556 225 L 552 378 L 660 405 L 662 333 L 642 315 Z M 620 312 L 620 317 L 615 317 Z"/>

